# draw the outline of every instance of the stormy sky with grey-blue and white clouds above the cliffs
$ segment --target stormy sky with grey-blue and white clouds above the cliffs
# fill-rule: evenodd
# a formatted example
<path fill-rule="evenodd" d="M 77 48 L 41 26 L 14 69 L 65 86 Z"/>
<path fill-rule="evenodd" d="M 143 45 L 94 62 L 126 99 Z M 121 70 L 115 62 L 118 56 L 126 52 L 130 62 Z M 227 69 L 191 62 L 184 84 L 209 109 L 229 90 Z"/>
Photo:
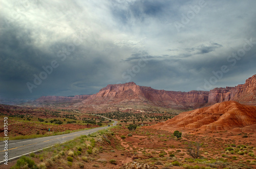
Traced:
<path fill-rule="evenodd" d="M 168 91 L 256 74 L 256 1 L 0 2 L 0 98 L 95 94 L 133 81 Z"/>

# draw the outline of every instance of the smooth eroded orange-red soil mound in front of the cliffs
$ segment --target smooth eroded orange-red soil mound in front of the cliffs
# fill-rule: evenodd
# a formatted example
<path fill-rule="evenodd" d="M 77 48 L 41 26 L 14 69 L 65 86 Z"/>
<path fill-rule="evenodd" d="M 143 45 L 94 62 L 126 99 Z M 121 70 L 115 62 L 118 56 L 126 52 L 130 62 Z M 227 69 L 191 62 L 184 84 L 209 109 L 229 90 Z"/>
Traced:
<path fill-rule="evenodd" d="M 200 132 L 242 130 L 244 128 L 250 132 L 256 132 L 255 125 L 256 106 L 226 101 L 182 112 L 173 119 L 145 127 L 168 131 L 200 130 Z"/>

